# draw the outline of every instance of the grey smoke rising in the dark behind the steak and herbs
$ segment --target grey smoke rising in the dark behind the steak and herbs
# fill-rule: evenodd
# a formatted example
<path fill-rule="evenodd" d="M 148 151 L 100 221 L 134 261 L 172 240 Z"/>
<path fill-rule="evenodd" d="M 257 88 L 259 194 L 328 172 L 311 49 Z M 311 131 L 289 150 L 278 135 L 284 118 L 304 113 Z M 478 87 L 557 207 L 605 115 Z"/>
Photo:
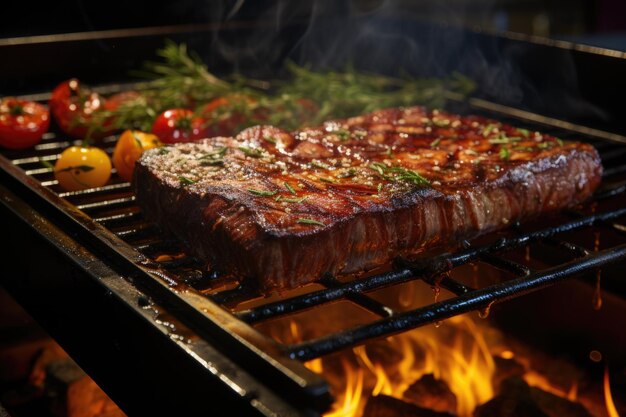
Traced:
<path fill-rule="evenodd" d="M 491 101 L 566 119 L 607 117 L 582 97 L 570 51 L 481 32 L 508 24 L 495 0 L 480 6 L 434 0 L 236 0 L 207 7 L 213 21 L 249 24 L 213 35 L 211 53 L 234 71 L 276 76 L 291 59 L 317 69 L 352 64 L 391 75 L 459 72 L 476 82 L 478 96 Z"/>

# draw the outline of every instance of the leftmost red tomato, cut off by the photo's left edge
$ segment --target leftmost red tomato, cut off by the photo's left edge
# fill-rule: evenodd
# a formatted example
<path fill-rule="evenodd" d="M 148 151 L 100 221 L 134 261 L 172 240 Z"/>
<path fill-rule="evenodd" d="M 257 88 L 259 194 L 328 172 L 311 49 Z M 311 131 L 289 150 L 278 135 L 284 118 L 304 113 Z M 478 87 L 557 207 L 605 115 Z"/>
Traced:
<path fill-rule="evenodd" d="M 34 101 L 0 100 L 0 145 L 8 149 L 35 146 L 50 125 L 48 109 Z"/>

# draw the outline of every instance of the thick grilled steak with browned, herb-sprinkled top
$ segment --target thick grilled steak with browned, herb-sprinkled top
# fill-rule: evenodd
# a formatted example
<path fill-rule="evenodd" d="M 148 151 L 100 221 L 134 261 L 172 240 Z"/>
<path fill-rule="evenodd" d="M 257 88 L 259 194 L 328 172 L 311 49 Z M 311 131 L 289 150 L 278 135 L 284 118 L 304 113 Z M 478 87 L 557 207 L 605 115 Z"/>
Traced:
<path fill-rule="evenodd" d="M 271 292 L 578 204 L 601 173 L 588 144 L 415 107 L 150 150 L 134 183 L 192 254 Z"/>

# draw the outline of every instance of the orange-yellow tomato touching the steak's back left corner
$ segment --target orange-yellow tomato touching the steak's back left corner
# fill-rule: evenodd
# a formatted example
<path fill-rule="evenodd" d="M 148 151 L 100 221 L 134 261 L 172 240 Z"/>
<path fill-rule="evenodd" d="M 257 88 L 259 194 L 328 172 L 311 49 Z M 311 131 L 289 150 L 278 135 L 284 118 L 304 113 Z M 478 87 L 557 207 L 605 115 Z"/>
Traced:
<path fill-rule="evenodd" d="M 133 178 L 135 162 L 143 151 L 162 145 L 159 138 L 152 133 L 140 130 L 125 131 L 117 140 L 113 151 L 113 166 L 117 170 L 117 175 L 125 181 L 130 181 Z"/>

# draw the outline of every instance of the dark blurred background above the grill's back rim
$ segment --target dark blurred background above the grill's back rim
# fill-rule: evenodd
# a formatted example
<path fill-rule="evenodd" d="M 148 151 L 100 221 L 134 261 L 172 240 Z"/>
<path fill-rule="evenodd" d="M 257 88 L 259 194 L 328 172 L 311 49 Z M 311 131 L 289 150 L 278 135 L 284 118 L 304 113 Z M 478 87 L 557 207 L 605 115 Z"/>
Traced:
<path fill-rule="evenodd" d="M 568 39 L 626 51 L 623 0 L 87 0 L 3 2 L 0 37 L 266 18 L 276 24 L 324 16 L 414 15 L 469 27 Z"/>

